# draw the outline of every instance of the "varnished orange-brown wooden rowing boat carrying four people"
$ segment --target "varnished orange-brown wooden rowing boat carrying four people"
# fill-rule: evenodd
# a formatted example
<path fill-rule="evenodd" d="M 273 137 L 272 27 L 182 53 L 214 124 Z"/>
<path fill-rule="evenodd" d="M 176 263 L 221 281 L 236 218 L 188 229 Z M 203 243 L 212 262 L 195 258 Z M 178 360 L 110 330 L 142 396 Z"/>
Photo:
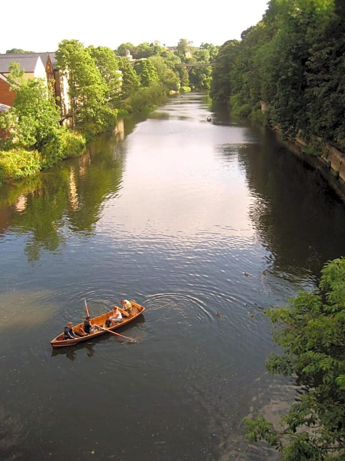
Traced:
<path fill-rule="evenodd" d="M 91 325 L 97 325 L 98 327 L 101 327 L 102 330 L 95 330 L 93 333 L 90 334 L 85 334 L 85 336 L 76 336 L 74 339 L 65 339 L 65 333 L 60 333 L 56 338 L 52 339 L 50 341 L 50 344 L 52 347 L 55 349 L 57 347 L 66 347 L 66 346 L 72 346 L 73 344 L 78 344 L 83 341 L 88 341 L 89 339 L 96 338 L 97 336 L 100 336 L 101 334 L 107 333 L 108 331 L 114 331 L 117 328 L 122 327 L 123 325 L 126 325 L 129 322 L 132 322 L 132 320 L 136 319 L 139 315 L 143 313 L 145 310 L 145 307 L 141 306 L 140 304 L 136 303 L 135 301 L 131 301 L 132 304 L 132 310 L 129 312 L 121 309 L 119 307 L 120 312 L 122 313 L 122 320 L 121 322 L 117 323 L 114 327 L 106 327 L 105 326 L 105 321 L 108 319 L 109 316 L 112 315 L 113 311 L 105 312 L 104 314 L 97 315 L 97 317 L 93 317 L 90 319 Z M 79 323 L 78 325 L 75 325 L 72 330 L 74 332 L 78 332 L 83 334 L 83 322 Z"/>

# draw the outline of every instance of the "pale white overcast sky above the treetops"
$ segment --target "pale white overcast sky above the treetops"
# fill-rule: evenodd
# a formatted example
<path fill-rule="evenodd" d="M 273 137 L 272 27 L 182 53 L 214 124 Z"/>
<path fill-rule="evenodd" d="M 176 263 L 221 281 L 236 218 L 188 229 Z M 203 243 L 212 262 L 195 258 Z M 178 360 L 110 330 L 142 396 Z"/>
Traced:
<path fill-rule="evenodd" d="M 17 0 L 1 2 L 0 53 L 11 48 L 56 51 L 63 39 L 85 46 L 117 48 L 158 40 L 175 46 L 185 38 L 222 45 L 240 39 L 243 30 L 258 23 L 268 0 L 125 1 Z"/>

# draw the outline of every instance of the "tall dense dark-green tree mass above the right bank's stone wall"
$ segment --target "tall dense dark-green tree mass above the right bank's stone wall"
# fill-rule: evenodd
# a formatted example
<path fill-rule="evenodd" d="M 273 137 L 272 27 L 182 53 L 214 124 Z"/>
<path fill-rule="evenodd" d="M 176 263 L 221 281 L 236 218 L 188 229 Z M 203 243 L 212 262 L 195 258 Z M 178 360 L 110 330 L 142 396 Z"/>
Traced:
<path fill-rule="evenodd" d="M 316 134 L 345 147 L 345 6 L 341 0 L 270 0 L 262 21 L 226 42 L 210 95 L 234 114 L 259 116 L 287 137 Z M 231 52 L 230 52 L 231 51 Z"/>

